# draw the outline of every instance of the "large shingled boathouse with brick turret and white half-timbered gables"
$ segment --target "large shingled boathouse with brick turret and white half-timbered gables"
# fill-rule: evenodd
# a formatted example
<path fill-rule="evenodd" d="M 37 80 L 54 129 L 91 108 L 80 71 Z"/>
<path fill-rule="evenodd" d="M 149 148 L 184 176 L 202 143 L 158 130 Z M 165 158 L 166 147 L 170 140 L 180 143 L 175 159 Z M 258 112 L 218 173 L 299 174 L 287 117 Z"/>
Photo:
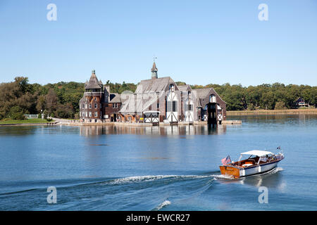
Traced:
<path fill-rule="evenodd" d="M 158 77 L 153 63 L 151 79 L 144 79 L 133 94 L 110 93 L 95 71 L 80 99 L 82 122 L 189 122 L 225 120 L 226 103 L 213 88 L 178 86 L 170 77 Z"/>

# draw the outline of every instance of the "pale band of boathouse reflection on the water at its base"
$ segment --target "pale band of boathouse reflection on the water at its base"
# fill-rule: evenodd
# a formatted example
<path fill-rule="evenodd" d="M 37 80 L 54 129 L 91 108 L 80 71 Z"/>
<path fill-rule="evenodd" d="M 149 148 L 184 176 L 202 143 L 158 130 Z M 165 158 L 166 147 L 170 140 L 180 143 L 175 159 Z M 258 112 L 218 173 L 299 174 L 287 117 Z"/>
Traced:
<path fill-rule="evenodd" d="M 155 127 L 128 127 L 128 126 L 82 126 L 80 135 L 94 136 L 105 134 L 136 134 L 136 135 L 208 135 L 225 134 L 227 127 L 225 124 L 216 127 L 208 125 L 189 126 L 155 126 Z"/>

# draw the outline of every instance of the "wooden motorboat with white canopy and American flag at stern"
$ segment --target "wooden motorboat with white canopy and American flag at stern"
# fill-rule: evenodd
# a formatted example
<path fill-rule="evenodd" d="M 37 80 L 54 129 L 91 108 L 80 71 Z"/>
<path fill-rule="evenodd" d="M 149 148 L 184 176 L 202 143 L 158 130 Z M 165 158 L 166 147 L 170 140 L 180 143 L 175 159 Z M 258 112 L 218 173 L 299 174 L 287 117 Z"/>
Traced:
<path fill-rule="evenodd" d="M 280 147 L 278 148 L 280 150 Z M 247 159 L 242 160 L 247 155 Z M 249 157 L 248 157 L 249 156 Z M 220 172 L 223 175 L 231 176 L 235 179 L 242 176 L 262 174 L 278 166 L 278 162 L 284 159 L 282 150 L 274 154 L 266 150 L 250 150 L 240 153 L 237 162 L 230 160 L 230 156 L 223 159 L 223 165 L 220 166 Z"/>

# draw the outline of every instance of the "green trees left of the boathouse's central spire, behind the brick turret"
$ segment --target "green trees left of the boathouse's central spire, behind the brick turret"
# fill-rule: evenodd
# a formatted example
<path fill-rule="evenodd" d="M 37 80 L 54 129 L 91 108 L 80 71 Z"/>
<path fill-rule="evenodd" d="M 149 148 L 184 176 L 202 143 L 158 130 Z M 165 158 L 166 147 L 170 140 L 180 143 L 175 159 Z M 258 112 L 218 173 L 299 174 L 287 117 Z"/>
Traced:
<path fill-rule="evenodd" d="M 135 84 L 107 82 L 112 93 L 135 91 Z M 79 101 L 85 92 L 80 82 L 30 84 L 27 77 L 15 77 L 13 82 L 0 84 L 0 120 L 23 120 L 25 114 L 42 114 L 59 118 L 76 118 Z"/>

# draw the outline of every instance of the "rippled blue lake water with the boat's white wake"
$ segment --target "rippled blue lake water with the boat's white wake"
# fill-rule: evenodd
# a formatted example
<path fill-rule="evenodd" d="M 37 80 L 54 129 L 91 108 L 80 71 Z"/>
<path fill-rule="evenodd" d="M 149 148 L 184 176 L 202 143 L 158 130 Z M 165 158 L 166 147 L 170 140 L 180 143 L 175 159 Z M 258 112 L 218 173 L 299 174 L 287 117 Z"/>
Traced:
<path fill-rule="evenodd" d="M 0 127 L 0 210 L 317 210 L 317 116 L 228 119 L 242 124 Z M 227 155 L 278 146 L 272 172 L 220 176 Z"/>

